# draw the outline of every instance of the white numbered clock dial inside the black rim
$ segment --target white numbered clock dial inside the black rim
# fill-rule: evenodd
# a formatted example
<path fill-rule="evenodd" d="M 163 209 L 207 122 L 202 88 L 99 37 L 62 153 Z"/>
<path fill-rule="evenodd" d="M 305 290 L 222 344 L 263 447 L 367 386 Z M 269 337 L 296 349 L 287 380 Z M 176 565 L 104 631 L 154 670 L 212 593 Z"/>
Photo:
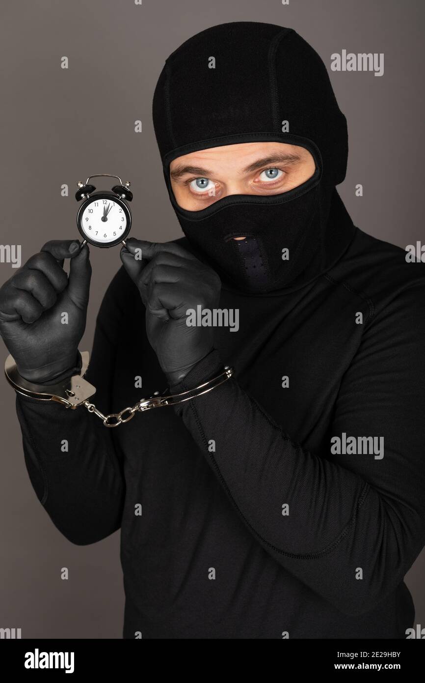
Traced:
<path fill-rule="evenodd" d="M 93 199 L 81 214 L 80 225 L 91 240 L 106 244 L 124 234 L 127 218 L 122 206 L 113 199 Z"/>

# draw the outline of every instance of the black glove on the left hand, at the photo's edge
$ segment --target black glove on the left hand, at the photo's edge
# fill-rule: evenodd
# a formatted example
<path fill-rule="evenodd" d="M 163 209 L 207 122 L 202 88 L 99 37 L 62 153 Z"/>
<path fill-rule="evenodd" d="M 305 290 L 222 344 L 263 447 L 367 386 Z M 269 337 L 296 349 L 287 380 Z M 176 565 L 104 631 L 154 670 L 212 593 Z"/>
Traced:
<path fill-rule="evenodd" d="M 65 258 L 71 259 L 69 277 Z M 90 278 L 87 245 L 52 240 L 0 288 L 0 334 L 25 379 L 46 384 L 78 370 Z M 68 324 L 61 322 L 63 313 Z"/>

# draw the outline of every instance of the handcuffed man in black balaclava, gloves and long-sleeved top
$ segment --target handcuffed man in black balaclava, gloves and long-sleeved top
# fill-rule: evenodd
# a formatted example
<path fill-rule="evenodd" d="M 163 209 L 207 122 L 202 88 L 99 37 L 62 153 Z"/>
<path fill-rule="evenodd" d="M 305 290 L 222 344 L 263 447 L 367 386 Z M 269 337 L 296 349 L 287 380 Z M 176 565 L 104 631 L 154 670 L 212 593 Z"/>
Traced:
<path fill-rule="evenodd" d="M 118 430 L 18 395 L 38 497 L 73 542 L 121 527 L 126 638 L 405 638 L 425 539 L 424 266 L 349 218 L 345 117 L 295 31 L 190 38 L 153 122 L 185 237 L 127 240 L 86 378 L 111 412 L 140 400 L 138 376 L 143 395 L 235 376 Z M 68 246 L 52 245 L 32 268 L 59 268 Z M 83 312 L 86 249 L 69 254 Z M 52 380 L 9 348 L 20 374 Z M 61 365 L 50 349 L 55 375 L 75 352 Z"/>

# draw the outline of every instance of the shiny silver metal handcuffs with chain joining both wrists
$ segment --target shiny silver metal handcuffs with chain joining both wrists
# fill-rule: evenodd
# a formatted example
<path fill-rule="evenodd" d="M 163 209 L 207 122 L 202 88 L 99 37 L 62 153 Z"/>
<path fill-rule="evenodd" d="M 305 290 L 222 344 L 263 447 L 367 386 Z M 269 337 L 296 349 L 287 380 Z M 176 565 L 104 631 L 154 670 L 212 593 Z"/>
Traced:
<path fill-rule="evenodd" d="M 65 406 L 65 408 L 72 408 L 72 410 L 79 406 L 85 406 L 89 413 L 94 413 L 100 417 L 105 427 L 117 427 L 120 424 L 129 422 L 136 413 L 143 413 L 145 410 L 151 410 L 151 408 L 173 406 L 178 403 L 183 403 L 184 401 L 189 401 L 196 396 L 201 396 L 203 393 L 207 393 L 207 391 L 211 391 L 211 389 L 220 386 L 234 374 L 233 367 L 225 365 L 223 372 L 193 389 L 168 395 L 160 395 L 159 391 L 155 391 L 149 398 L 141 398 L 134 406 L 123 408 L 119 413 L 103 415 L 103 413 L 96 408 L 95 404 L 89 401 L 89 398 L 96 393 L 96 387 L 93 387 L 93 385 L 84 378 L 87 368 L 89 367 L 89 352 L 80 351 L 79 353 L 82 361 L 80 374 L 74 374 L 71 377 L 61 380 L 61 382 L 57 382 L 57 384 L 37 385 L 33 384 L 33 382 L 29 382 L 18 373 L 18 368 L 11 355 L 9 355 L 5 361 L 5 376 L 17 393 L 40 401 L 55 401 Z"/>

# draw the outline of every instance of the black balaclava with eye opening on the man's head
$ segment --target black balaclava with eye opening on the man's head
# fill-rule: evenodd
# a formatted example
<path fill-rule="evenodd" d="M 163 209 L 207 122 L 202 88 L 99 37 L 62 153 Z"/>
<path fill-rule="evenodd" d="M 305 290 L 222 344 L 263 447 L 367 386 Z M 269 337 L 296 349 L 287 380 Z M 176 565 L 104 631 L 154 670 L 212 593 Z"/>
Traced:
<path fill-rule="evenodd" d="M 211 57 L 215 68 L 209 68 Z M 332 266 L 347 248 L 354 226 L 335 189 L 347 168 L 347 122 L 323 61 L 293 29 L 235 22 L 197 33 L 166 59 L 153 96 L 153 125 L 186 238 L 237 290 L 293 288 Z M 229 195 L 199 211 L 179 207 L 169 174 L 173 159 L 254 141 L 308 149 L 314 176 L 279 195 Z"/>

